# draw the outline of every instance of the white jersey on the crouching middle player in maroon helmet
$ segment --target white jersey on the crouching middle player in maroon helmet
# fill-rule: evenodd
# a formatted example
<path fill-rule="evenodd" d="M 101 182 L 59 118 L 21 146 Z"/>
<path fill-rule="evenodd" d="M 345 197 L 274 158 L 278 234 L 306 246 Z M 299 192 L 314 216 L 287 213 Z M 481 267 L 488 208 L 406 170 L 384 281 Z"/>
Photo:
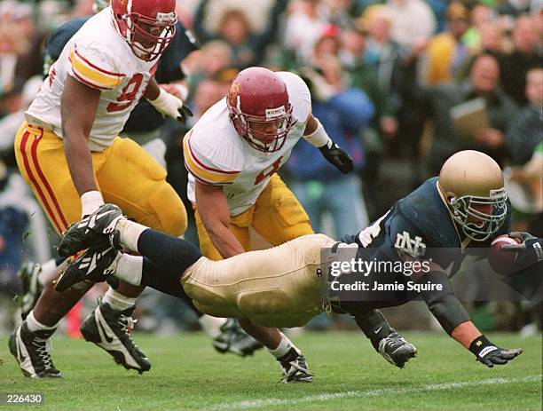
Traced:
<path fill-rule="evenodd" d="M 287 140 L 275 153 L 259 152 L 249 146 L 234 128 L 226 99 L 221 99 L 201 116 L 183 142 L 185 166 L 189 170 L 188 198 L 196 202 L 195 181 L 223 186 L 231 216 L 255 204 L 279 167 L 287 162 L 296 142 L 302 137 L 311 114 L 311 94 L 303 80 L 292 73 L 279 72 L 287 84 L 295 125 Z"/>

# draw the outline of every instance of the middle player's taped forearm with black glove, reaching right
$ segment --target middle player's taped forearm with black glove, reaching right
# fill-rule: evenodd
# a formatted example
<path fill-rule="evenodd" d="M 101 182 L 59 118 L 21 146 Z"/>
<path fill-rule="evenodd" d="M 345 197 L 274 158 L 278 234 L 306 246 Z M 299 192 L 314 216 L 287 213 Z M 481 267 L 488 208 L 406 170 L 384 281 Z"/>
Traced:
<path fill-rule="evenodd" d="M 309 141 L 311 145 L 319 148 L 324 158 L 343 174 L 348 174 L 354 170 L 350 155 L 345 153 L 340 146 L 332 141 L 332 138 L 328 136 L 319 119 L 314 115 L 310 114 L 308 117 L 305 130 L 303 131 L 303 138 Z"/>

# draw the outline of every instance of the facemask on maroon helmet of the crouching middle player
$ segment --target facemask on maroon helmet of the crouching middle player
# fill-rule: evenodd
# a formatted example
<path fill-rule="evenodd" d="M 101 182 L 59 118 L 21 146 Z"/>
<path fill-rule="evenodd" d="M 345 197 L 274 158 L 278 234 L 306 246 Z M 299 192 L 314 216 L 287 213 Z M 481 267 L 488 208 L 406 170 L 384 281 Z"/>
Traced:
<path fill-rule="evenodd" d="M 266 115 L 244 115 L 240 109 L 240 97 L 237 98 L 237 107 L 229 105 L 230 116 L 232 123 L 242 138 L 244 138 L 249 146 L 252 146 L 257 151 L 264 153 L 274 153 L 279 151 L 287 141 L 287 134 L 295 125 L 296 121 L 292 115 L 292 106 L 288 103 L 287 108 L 284 106 L 278 108 L 270 108 L 266 110 Z M 251 124 L 255 123 L 274 123 L 281 121 L 277 131 L 266 133 L 255 130 Z M 264 143 L 262 139 L 272 138 L 270 143 Z"/>

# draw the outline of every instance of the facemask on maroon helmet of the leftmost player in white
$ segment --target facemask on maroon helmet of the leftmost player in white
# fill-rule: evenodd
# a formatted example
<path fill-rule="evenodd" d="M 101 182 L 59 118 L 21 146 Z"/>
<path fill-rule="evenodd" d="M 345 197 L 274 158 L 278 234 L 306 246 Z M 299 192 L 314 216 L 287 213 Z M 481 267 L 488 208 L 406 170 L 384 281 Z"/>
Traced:
<path fill-rule="evenodd" d="M 150 19 L 137 12 L 131 12 L 122 16 L 127 30 L 126 40 L 130 44 L 130 48 L 138 56 L 138 58 L 151 61 L 160 57 L 162 52 L 166 50 L 169 43 L 176 36 L 177 15 L 175 12 L 158 13 L 157 19 Z M 158 36 L 153 35 L 142 26 L 150 30 L 160 28 L 161 33 Z M 153 43 L 150 47 L 145 47 L 141 42 L 148 41 Z"/>

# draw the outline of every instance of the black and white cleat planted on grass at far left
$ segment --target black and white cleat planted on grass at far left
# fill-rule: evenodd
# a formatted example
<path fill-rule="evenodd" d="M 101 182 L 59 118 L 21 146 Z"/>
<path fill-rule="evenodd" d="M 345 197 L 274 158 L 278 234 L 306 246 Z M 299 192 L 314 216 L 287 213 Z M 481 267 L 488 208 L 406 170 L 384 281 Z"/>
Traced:
<path fill-rule="evenodd" d="M 30 378 L 62 376 L 62 373 L 53 365 L 48 346 L 48 340 L 55 329 L 30 331 L 27 323 L 23 322 L 13 331 L 9 341 L 10 352 L 25 376 Z"/>

